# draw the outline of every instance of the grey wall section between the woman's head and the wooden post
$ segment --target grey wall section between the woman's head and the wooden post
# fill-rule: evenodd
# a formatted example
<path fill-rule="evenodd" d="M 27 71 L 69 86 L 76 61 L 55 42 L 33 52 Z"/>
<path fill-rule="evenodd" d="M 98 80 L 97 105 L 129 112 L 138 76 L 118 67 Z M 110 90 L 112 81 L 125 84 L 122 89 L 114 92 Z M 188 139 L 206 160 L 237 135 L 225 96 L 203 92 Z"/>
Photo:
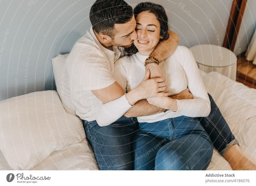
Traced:
<path fill-rule="evenodd" d="M 136 4 L 137 1 L 127 0 L 127 2 Z M 164 6 L 171 29 L 180 36 L 180 45 L 191 47 L 197 44 L 218 44 L 219 41 L 222 45 L 232 0 L 155 0 L 151 2 Z"/>

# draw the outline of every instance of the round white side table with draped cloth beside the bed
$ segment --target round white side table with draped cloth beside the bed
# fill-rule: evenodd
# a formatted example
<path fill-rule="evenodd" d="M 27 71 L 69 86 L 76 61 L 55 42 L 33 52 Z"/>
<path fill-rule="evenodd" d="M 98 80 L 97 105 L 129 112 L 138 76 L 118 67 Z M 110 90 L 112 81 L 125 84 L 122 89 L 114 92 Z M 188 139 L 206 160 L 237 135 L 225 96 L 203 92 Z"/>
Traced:
<path fill-rule="evenodd" d="M 190 48 L 199 69 L 206 73 L 219 72 L 236 81 L 236 62 L 234 52 L 213 44 L 195 45 Z"/>

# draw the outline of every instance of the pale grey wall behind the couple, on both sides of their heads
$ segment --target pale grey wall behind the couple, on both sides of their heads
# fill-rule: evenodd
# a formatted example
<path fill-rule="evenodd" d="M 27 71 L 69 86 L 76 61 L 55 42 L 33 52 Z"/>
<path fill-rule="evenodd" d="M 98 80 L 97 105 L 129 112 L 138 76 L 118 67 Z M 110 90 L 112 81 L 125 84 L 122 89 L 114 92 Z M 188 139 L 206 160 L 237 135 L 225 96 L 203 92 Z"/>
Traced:
<path fill-rule="evenodd" d="M 94 1 L 0 1 L 0 100 L 56 89 L 51 59 L 68 53 L 91 27 L 88 16 Z M 133 6 L 137 2 L 127 0 Z M 218 44 L 217 39 L 222 44 L 232 0 L 152 2 L 166 8 L 171 29 L 180 35 L 180 45 Z"/>

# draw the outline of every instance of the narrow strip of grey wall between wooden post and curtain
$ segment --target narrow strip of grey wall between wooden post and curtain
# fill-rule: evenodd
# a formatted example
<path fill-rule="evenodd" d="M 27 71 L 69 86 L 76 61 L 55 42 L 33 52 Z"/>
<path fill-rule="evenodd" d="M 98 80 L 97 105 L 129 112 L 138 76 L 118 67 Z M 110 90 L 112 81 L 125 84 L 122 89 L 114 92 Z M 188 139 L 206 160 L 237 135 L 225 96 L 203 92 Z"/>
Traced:
<path fill-rule="evenodd" d="M 248 0 L 240 30 L 237 35 L 234 53 L 242 53 L 247 50 L 256 29 L 256 0 Z"/>

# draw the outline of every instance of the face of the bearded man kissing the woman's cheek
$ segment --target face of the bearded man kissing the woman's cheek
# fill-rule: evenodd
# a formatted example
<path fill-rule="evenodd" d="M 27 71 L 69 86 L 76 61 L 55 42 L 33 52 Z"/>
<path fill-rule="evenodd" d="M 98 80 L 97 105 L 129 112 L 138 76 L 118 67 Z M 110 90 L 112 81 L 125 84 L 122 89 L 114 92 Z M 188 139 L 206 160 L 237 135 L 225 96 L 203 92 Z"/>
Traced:
<path fill-rule="evenodd" d="M 136 20 L 134 15 L 130 21 L 124 24 L 115 24 L 115 37 L 112 38 L 111 44 L 113 46 L 121 46 L 128 48 L 132 45 L 133 41 L 138 38 L 136 28 Z"/>

